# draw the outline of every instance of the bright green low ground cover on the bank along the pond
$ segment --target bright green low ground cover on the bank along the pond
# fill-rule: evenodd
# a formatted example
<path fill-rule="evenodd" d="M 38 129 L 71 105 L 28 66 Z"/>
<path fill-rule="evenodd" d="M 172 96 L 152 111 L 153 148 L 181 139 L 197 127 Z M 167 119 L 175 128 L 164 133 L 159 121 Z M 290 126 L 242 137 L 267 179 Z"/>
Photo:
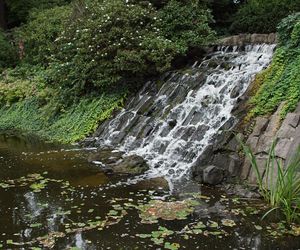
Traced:
<path fill-rule="evenodd" d="M 123 98 L 122 94 L 84 98 L 57 114 L 41 107 L 36 98 L 26 98 L 0 108 L 0 131 L 19 130 L 50 141 L 72 143 L 95 131 L 100 122 L 121 107 Z"/>

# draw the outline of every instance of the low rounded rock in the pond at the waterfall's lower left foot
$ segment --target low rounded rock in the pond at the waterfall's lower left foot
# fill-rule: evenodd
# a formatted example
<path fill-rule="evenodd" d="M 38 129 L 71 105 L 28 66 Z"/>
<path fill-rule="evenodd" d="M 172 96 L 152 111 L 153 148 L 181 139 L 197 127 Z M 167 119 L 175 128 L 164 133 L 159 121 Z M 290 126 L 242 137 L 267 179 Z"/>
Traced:
<path fill-rule="evenodd" d="M 114 173 L 131 175 L 142 174 L 149 170 L 146 161 L 137 155 L 127 156 L 123 158 L 122 162 L 111 165 L 111 168 Z"/>

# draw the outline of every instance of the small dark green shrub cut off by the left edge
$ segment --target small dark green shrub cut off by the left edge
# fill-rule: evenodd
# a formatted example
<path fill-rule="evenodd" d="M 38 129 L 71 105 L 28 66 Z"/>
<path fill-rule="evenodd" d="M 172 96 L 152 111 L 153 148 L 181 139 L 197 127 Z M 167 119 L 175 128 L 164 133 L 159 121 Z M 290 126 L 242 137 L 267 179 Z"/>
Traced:
<path fill-rule="evenodd" d="M 0 29 L 0 72 L 13 66 L 17 61 L 17 51 L 7 35 Z"/>

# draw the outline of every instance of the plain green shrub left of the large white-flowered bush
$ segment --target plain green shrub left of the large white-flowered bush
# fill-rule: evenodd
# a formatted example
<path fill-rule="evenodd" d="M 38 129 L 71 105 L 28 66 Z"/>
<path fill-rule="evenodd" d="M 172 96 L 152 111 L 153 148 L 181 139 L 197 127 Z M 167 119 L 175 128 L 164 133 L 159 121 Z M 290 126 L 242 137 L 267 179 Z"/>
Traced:
<path fill-rule="evenodd" d="M 27 63 L 48 64 L 49 57 L 54 52 L 54 41 L 62 33 L 70 14 L 69 6 L 31 13 L 28 23 L 16 31 L 18 40 L 25 45 Z"/>

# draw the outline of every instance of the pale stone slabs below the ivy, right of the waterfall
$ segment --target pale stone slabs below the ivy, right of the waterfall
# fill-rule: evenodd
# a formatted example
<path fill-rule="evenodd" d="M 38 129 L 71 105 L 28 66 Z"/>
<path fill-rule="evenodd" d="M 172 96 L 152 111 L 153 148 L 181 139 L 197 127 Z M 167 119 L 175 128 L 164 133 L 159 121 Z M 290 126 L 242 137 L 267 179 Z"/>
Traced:
<path fill-rule="evenodd" d="M 266 171 L 268 152 L 274 140 L 276 141 L 274 142 L 276 143 L 275 156 L 282 161 L 284 166 L 288 165 L 300 146 L 300 103 L 297 109 L 289 113 L 283 121 L 280 120 L 281 108 L 282 105 L 269 118 L 256 118 L 253 132 L 246 142 L 256 156 L 257 165 L 262 175 Z M 256 174 L 248 159 L 244 161 L 241 178 L 250 184 L 257 183 Z"/>

